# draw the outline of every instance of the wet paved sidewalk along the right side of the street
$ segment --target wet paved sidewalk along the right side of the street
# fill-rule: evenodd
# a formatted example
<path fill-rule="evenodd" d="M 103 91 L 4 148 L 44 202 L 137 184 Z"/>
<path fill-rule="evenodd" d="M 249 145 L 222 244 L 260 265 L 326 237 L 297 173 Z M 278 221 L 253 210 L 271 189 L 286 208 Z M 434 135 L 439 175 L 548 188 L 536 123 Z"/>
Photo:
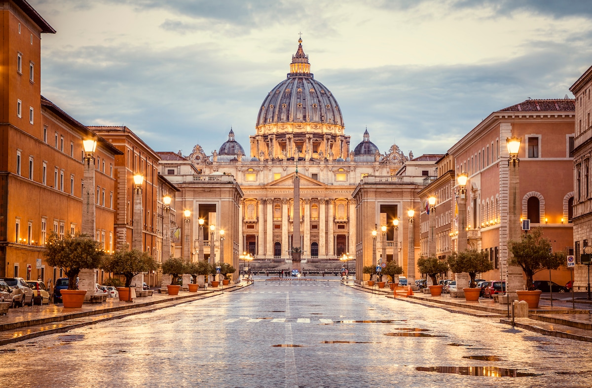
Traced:
<path fill-rule="evenodd" d="M 393 292 L 388 288 L 360 286 L 353 283 L 346 284 L 346 286 L 368 293 L 384 295 L 391 299 L 394 297 Z M 406 296 L 406 288 L 399 287 L 396 299 L 408 303 L 422 304 L 426 307 L 437 307 L 453 313 L 479 316 L 482 318 L 498 318 L 501 323 L 512 324 L 511 304 L 509 316 L 507 304 L 494 302 L 493 299 L 480 298 L 478 302 L 466 302 L 464 298 L 454 298 L 449 294 L 431 296 L 420 291 L 413 292 L 414 294 L 412 296 Z M 571 303 L 571 294 L 564 294 L 564 296 L 564 302 Z M 569 299 L 567 299 L 568 296 Z M 555 299 L 556 294 L 554 294 Z M 576 303 L 589 302 L 578 299 Z M 590 304 L 590 307 L 592 308 L 592 304 Z M 515 318 L 514 325 L 544 335 L 592 342 L 592 315 L 589 309 L 574 310 L 562 306 L 539 306 L 538 309 L 529 310 L 528 318 Z"/>

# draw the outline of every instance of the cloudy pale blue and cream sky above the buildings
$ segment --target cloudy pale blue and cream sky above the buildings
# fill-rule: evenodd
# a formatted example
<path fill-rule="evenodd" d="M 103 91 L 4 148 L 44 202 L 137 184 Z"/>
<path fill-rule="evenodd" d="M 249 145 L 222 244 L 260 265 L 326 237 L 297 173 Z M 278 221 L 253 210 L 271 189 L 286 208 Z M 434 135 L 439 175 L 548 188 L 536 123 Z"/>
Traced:
<path fill-rule="evenodd" d="M 42 40 L 46 98 L 184 155 L 230 127 L 248 150 L 299 32 L 351 146 L 368 127 L 383 153 L 444 153 L 492 111 L 572 98 L 592 65 L 587 0 L 28 1 L 57 30 Z"/>

